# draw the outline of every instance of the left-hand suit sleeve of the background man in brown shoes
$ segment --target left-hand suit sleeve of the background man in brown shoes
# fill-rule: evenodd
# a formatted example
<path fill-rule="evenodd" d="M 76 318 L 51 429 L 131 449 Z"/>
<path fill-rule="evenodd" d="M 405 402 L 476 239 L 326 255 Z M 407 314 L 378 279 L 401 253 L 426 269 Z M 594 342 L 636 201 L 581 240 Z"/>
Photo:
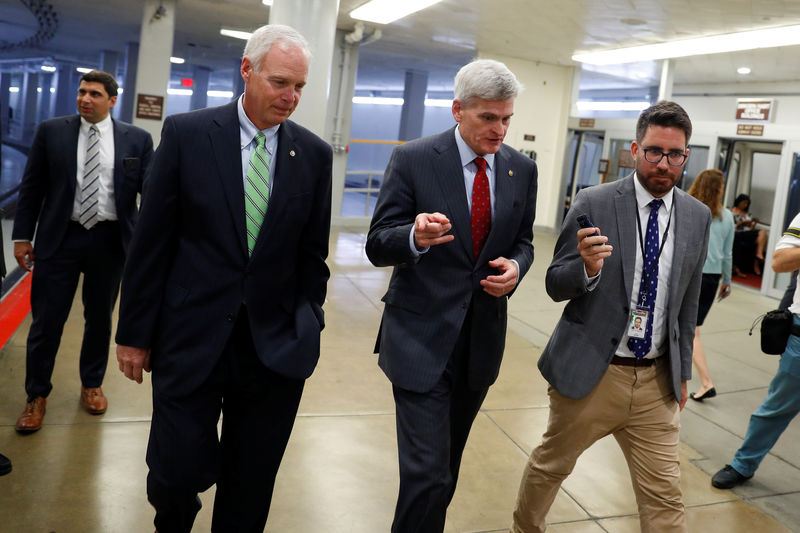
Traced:
<path fill-rule="evenodd" d="M 47 123 L 44 122 L 36 128 L 28 162 L 22 174 L 17 214 L 14 216 L 14 228 L 11 233 L 11 238 L 14 240 L 32 241 L 36 232 L 36 221 L 39 219 L 42 203 L 47 195 L 49 181 L 47 137 Z"/>

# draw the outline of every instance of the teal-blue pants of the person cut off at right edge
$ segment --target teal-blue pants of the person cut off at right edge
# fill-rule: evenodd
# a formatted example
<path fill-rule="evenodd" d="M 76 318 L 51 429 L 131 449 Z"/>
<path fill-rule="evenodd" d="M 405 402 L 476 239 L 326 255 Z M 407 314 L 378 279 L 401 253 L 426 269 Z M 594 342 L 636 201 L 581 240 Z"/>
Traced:
<path fill-rule="evenodd" d="M 794 317 L 800 324 L 800 318 Z M 781 355 L 778 372 L 769 384 L 767 397 L 750 416 L 744 442 L 736 450 L 731 466 L 743 476 L 752 476 L 778 437 L 800 412 L 800 337 L 791 335 Z"/>

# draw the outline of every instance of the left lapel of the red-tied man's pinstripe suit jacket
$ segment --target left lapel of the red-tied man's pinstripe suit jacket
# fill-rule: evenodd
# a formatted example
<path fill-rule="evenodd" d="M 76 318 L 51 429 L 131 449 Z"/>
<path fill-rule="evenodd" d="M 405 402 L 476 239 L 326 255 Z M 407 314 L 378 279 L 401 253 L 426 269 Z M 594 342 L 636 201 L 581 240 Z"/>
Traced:
<path fill-rule="evenodd" d="M 453 129 L 442 133 L 436 140 L 433 149 L 436 156 L 433 160 L 433 176 L 439 183 L 447 204 L 448 212 L 444 213 L 453 225 L 453 234 L 461 243 L 470 261 L 472 260 L 472 226 L 467 208 L 467 191 L 464 187 L 464 170 Z"/>

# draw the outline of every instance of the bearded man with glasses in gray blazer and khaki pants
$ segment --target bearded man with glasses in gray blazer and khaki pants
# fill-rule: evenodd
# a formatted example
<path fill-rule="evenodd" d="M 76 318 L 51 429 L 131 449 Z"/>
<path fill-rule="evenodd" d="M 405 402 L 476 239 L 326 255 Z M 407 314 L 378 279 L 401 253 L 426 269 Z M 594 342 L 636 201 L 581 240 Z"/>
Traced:
<path fill-rule="evenodd" d="M 642 531 L 686 531 L 678 432 L 711 221 L 674 188 L 691 131 L 673 102 L 643 111 L 634 174 L 584 189 L 564 220 L 546 287 L 568 302 L 539 360 L 550 417 L 523 473 L 514 533 L 545 530 L 562 481 L 606 435 L 628 462 Z M 594 224 L 581 229 L 580 215 Z"/>

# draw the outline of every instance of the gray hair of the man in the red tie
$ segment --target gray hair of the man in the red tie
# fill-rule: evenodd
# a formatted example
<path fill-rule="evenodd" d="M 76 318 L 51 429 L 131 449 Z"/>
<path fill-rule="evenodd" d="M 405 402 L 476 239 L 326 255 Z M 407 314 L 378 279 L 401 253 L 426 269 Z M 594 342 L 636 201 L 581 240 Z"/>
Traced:
<path fill-rule="evenodd" d="M 465 107 L 473 98 L 508 100 L 516 98 L 522 84 L 508 67 L 494 59 L 476 59 L 456 74 L 454 96 Z"/>

